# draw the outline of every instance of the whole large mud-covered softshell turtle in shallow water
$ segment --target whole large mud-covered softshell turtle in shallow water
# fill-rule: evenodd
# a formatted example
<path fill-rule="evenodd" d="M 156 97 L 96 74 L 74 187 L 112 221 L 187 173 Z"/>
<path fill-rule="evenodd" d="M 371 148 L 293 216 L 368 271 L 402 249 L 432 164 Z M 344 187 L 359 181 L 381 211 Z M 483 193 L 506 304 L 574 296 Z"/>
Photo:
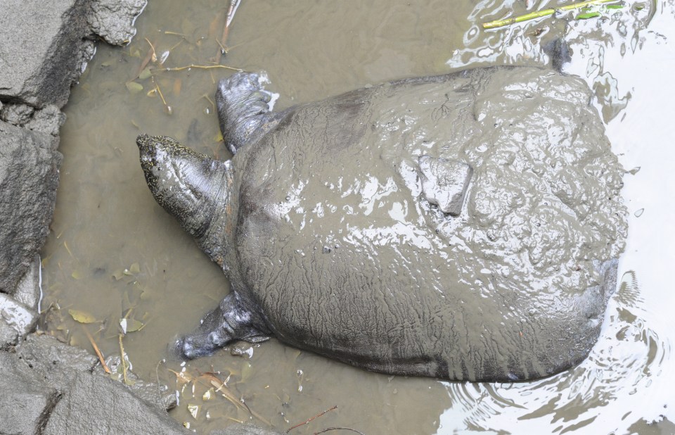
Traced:
<path fill-rule="evenodd" d="M 377 372 L 514 381 L 588 355 L 626 209 L 584 82 L 477 68 L 274 113 L 237 73 L 216 98 L 231 160 L 137 139 L 156 200 L 231 280 L 188 358 L 275 336 Z"/>

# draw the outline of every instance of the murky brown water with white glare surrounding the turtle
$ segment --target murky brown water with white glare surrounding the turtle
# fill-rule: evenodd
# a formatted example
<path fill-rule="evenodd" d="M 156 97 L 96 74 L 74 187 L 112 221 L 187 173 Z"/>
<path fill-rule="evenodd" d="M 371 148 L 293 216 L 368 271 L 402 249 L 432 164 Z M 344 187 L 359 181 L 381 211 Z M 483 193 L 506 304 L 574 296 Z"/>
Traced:
<path fill-rule="evenodd" d="M 591 356 L 573 370 L 522 384 L 387 377 L 274 340 L 184 364 L 172 358 L 167 343 L 194 329 L 229 286 L 156 205 L 134 139 L 141 132 L 167 134 L 229 158 L 212 95 L 218 78 L 231 72 L 159 70 L 162 60 L 164 67 L 213 64 L 224 3 L 151 0 L 134 41 L 124 49 L 101 47 L 73 89 L 62 129 L 57 210 L 43 252 L 42 308 L 51 334 L 91 349 L 86 328 L 103 354 L 119 355 L 120 318 L 126 317 L 122 345 L 134 372 L 178 391 L 174 417 L 200 433 L 235 421 L 285 430 L 335 405 L 291 433 L 328 427 L 365 434 L 675 431 L 669 422 L 646 423 L 662 416 L 675 421 L 675 297 L 668 279 L 675 260 L 672 2 L 638 3 L 643 7 L 570 25 L 561 16 L 489 32 L 477 23 L 514 9 L 523 13 L 523 2 L 378 0 L 347 7 L 248 0 L 236 11 L 221 63 L 265 70 L 268 89 L 281 95 L 278 109 L 468 65 L 541 63 L 540 39 L 564 34 L 570 41 L 566 70 L 596 92 L 612 146 L 632 170 L 624 177 L 629 240 L 619 290 Z M 157 61 L 148 57 L 148 42 Z M 155 65 L 153 77 L 141 73 L 144 63 Z M 226 379 L 226 390 L 210 390 Z M 253 416 L 235 404 L 242 398 Z"/>

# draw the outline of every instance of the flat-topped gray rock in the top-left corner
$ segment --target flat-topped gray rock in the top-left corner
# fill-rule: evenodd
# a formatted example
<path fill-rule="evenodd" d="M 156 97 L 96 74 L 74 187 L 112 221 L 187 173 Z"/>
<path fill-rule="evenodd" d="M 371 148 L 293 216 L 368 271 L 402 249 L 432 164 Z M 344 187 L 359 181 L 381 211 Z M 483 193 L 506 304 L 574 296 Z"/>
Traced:
<path fill-rule="evenodd" d="M 0 14 L 0 99 L 31 106 L 68 101 L 94 53 L 82 0 L 4 0 Z"/>

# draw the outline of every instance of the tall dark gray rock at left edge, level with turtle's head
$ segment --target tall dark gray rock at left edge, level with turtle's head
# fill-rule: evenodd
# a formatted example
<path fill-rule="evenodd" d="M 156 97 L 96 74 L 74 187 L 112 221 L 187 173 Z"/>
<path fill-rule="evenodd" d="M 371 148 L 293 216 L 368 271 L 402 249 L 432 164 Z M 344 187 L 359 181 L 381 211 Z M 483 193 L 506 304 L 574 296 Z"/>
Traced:
<path fill-rule="evenodd" d="M 0 291 L 13 293 L 44 243 L 56 201 L 58 139 L 0 121 Z"/>

